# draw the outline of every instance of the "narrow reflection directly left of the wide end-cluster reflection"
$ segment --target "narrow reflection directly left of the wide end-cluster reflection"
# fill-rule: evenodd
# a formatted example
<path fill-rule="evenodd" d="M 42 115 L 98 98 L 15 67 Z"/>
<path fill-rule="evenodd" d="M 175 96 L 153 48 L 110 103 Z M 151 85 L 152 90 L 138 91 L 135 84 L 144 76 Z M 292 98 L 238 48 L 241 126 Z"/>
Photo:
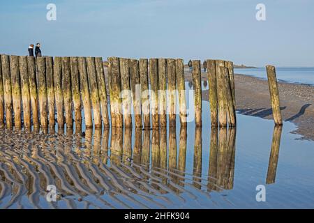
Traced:
<path fill-rule="evenodd" d="M 208 62 L 207 62 L 208 64 Z M 211 128 L 211 142 L 209 148 L 208 190 L 216 190 L 218 154 L 218 128 Z"/>

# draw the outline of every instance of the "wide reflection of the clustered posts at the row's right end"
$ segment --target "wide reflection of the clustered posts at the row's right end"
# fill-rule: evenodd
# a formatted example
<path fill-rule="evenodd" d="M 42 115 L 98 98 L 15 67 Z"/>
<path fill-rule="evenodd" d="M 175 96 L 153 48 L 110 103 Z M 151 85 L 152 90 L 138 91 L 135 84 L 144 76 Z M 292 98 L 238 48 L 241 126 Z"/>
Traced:
<path fill-rule="evenodd" d="M 220 128 L 218 137 L 216 185 L 226 190 L 233 187 L 236 129 Z"/>

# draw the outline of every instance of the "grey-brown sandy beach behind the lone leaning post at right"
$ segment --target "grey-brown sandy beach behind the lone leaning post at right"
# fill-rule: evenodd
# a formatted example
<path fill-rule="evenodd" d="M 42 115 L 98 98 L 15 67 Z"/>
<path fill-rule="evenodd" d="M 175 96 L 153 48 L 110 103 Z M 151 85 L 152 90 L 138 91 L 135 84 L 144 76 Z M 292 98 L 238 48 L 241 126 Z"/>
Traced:
<path fill-rule="evenodd" d="M 237 112 L 272 119 L 267 80 L 239 74 L 234 75 L 234 79 Z M 189 72 L 186 72 L 186 80 L 192 80 Z M 202 80 L 207 81 L 207 73 L 202 72 Z M 301 135 L 297 139 L 314 141 L 314 86 L 284 82 L 278 85 L 283 120 L 297 125 L 293 132 Z M 202 99 L 209 100 L 208 91 L 202 92 Z"/>

